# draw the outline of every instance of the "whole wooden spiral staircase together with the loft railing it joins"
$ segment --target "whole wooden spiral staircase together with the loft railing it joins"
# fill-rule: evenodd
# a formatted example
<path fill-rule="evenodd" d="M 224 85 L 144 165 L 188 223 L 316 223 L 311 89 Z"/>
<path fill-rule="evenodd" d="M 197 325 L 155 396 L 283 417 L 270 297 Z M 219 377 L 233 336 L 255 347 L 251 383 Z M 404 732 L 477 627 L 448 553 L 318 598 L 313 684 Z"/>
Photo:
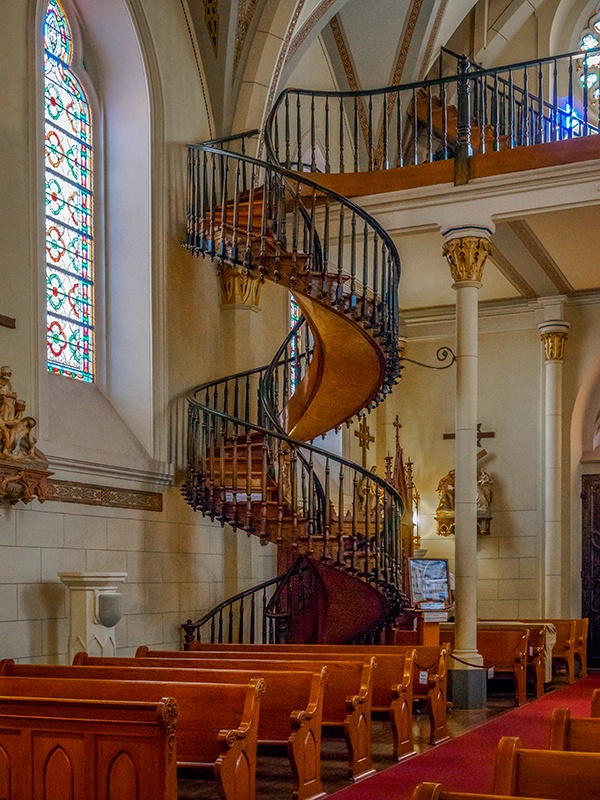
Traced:
<path fill-rule="evenodd" d="M 263 281 L 280 285 L 301 316 L 270 364 L 188 396 L 185 498 L 211 519 L 275 543 L 281 575 L 235 598 L 251 605 L 249 625 L 239 609 L 234 624 L 226 601 L 188 621 L 186 641 L 200 638 L 205 623 L 212 639 L 255 636 L 259 591 L 275 621 L 275 632 L 263 626 L 263 640 L 352 641 L 379 631 L 402 607 L 400 494 L 313 444 L 384 400 L 402 360 L 398 253 L 351 192 L 335 187 L 342 179 L 360 194 L 360 180 L 348 177 L 440 159 L 453 159 L 455 182 L 464 183 L 474 151 L 597 134 L 587 106 L 573 117 L 557 93 L 559 78 L 566 80 L 574 107 L 581 57 L 497 70 L 462 58 L 452 75 L 418 84 L 286 90 L 264 131 L 189 147 L 186 247 L 243 291 Z M 250 156 L 251 149 L 266 155 Z M 379 606 L 370 606 L 373 593 Z M 367 606 L 373 613 L 360 613 Z M 346 624 L 348 609 L 354 626 Z M 303 626 L 303 616 L 321 622 Z"/>

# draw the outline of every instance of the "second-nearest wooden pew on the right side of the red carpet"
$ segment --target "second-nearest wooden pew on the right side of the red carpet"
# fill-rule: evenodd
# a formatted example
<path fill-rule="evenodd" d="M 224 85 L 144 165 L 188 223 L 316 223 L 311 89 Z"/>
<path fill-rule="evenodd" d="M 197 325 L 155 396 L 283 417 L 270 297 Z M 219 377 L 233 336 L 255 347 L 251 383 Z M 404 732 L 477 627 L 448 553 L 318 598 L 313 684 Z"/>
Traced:
<path fill-rule="evenodd" d="M 509 797 L 598 800 L 600 753 L 529 750 L 516 736 L 504 736 L 496 753 L 493 790 Z"/>

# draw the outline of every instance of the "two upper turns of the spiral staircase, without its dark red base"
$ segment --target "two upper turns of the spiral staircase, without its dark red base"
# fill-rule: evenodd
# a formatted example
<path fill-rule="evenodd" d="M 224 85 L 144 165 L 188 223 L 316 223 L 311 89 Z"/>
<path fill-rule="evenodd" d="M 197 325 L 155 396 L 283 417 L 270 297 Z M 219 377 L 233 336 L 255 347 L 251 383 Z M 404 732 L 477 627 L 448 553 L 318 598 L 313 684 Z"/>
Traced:
<path fill-rule="evenodd" d="M 302 317 L 271 364 L 190 393 L 183 493 L 275 542 L 281 571 L 301 554 L 318 559 L 393 595 L 393 612 L 402 500 L 312 441 L 374 408 L 399 378 L 394 244 L 348 199 L 215 143 L 190 147 L 189 178 L 187 248 L 216 260 L 222 278 L 285 287 Z"/>

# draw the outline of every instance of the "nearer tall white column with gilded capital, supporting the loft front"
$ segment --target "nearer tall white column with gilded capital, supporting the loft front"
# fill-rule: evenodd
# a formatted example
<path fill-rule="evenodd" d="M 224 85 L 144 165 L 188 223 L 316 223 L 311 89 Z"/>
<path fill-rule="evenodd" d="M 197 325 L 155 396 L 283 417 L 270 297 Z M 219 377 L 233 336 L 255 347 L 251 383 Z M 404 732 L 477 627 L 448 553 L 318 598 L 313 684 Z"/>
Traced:
<path fill-rule="evenodd" d="M 485 704 L 485 674 L 477 669 L 483 663 L 477 652 L 477 357 L 478 292 L 490 233 L 489 229 L 453 228 L 444 244 L 456 290 L 456 659 L 452 669 L 453 700 L 462 708 Z M 456 675 L 461 671 L 462 676 Z M 469 671 L 471 675 L 464 674 Z"/>

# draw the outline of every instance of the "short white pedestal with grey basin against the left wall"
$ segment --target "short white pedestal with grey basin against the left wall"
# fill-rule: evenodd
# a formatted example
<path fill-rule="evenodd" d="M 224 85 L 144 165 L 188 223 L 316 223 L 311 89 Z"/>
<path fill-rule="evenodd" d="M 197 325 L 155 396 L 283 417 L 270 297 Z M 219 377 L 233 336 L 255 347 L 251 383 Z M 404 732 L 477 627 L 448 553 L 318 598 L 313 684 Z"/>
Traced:
<path fill-rule="evenodd" d="M 71 631 L 69 664 L 73 656 L 85 650 L 93 656 L 116 656 L 115 626 L 123 614 L 123 595 L 118 584 L 126 572 L 59 572 L 69 588 Z"/>

